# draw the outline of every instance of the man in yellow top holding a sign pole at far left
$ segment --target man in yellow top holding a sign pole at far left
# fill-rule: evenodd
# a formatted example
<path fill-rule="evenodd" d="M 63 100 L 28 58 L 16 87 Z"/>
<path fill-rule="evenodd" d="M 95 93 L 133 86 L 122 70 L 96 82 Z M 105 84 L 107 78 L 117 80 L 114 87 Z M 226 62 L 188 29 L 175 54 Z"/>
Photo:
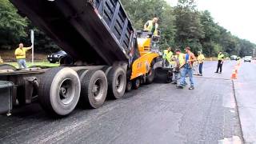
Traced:
<path fill-rule="evenodd" d="M 18 68 L 27 68 L 26 67 L 26 51 L 32 49 L 32 47 L 23 47 L 23 43 L 18 45 L 18 48 L 15 50 L 15 56 L 18 62 Z"/>

